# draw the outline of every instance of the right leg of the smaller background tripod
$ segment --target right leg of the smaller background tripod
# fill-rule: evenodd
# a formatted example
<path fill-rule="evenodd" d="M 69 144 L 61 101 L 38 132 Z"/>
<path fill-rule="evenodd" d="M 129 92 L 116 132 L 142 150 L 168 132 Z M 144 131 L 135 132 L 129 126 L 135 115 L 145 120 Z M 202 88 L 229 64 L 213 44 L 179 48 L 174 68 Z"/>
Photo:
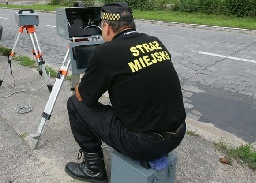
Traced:
<path fill-rule="evenodd" d="M 38 40 L 37 40 L 36 34 L 34 32 L 34 33 L 28 33 L 28 35 L 29 35 L 29 38 L 30 38 L 30 41 L 31 41 L 31 44 L 32 44 L 32 47 L 33 47 L 32 49 L 35 50 L 36 60 L 38 61 L 38 65 L 41 67 L 41 70 L 43 71 L 43 76 L 44 76 L 45 81 L 46 81 L 48 79 L 48 76 L 47 76 L 47 73 L 46 73 L 46 70 L 45 70 L 45 61 L 43 59 L 43 56 L 42 56 L 42 53 L 41 53 L 41 49 L 40 49 L 39 44 L 38 44 Z M 35 41 L 36 41 L 37 45 L 35 45 L 33 36 L 35 38 Z M 38 47 L 39 55 L 38 55 L 37 47 Z M 47 87 L 48 87 L 49 92 L 51 92 L 53 86 L 50 84 L 49 81 L 47 81 Z"/>

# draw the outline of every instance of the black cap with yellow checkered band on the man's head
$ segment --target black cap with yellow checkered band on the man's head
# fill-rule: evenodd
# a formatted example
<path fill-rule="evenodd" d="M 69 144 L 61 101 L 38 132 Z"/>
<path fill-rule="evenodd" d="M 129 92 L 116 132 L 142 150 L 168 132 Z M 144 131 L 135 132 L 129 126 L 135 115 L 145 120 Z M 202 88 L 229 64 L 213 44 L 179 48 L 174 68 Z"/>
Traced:
<path fill-rule="evenodd" d="M 121 15 L 124 11 L 129 11 L 132 14 L 132 9 L 125 2 L 105 4 L 102 6 L 102 19 L 110 21 L 133 21 L 133 15 Z"/>

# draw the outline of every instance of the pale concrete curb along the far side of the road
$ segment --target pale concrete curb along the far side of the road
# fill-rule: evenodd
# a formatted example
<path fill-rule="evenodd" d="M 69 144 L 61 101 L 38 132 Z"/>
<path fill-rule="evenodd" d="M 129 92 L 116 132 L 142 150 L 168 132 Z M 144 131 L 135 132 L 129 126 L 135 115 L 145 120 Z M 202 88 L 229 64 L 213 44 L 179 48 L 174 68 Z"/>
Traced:
<path fill-rule="evenodd" d="M 9 7 L 0 7 L 0 8 L 19 10 L 19 8 L 11 8 L 11 7 L 10 8 Z M 55 13 L 56 12 L 56 11 L 45 11 L 45 10 L 35 10 L 35 11 L 43 12 L 43 13 Z M 179 26 L 179 27 L 189 27 L 189 28 L 207 29 L 207 30 L 219 30 L 219 31 L 245 33 L 245 34 L 256 34 L 256 30 L 240 29 L 240 28 L 233 28 L 233 27 L 207 26 L 207 25 L 199 25 L 199 24 L 164 22 L 164 21 L 157 21 L 157 20 L 144 20 L 144 19 L 135 19 L 135 20 L 136 20 L 136 22 L 141 22 L 141 23 L 151 23 L 151 24 L 166 25 L 166 26 Z"/>

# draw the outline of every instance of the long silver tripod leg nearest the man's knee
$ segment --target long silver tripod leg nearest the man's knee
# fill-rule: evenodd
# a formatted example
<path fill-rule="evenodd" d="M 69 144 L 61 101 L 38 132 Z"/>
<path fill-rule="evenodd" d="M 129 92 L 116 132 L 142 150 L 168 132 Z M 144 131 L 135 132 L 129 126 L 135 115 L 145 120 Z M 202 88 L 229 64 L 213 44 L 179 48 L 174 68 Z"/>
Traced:
<path fill-rule="evenodd" d="M 30 135 L 31 137 L 34 138 L 34 147 L 33 147 L 33 149 L 37 148 L 37 146 L 38 146 L 38 144 L 41 140 L 43 131 L 45 129 L 45 125 L 47 123 L 47 120 L 50 120 L 51 114 L 53 112 L 54 105 L 55 105 L 57 97 L 60 93 L 61 86 L 64 82 L 65 75 L 68 72 L 68 67 L 70 65 L 70 59 L 67 62 L 68 55 L 69 55 L 69 49 L 68 49 L 68 51 L 65 55 L 65 58 L 62 62 L 63 65 L 60 67 L 59 74 L 57 75 L 56 81 L 53 85 L 53 90 L 52 90 L 52 92 L 50 94 L 50 97 L 47 101 L 47 104 L 45 106 L 45 110 L 42 114 L 42 120 L 41 120 L 41 123 L 39 124 L 38 131 L 37 131 L 36 134 L 31 134 Z M 65 62 L 67 62 L 66 65 L 64 65 Z"/>

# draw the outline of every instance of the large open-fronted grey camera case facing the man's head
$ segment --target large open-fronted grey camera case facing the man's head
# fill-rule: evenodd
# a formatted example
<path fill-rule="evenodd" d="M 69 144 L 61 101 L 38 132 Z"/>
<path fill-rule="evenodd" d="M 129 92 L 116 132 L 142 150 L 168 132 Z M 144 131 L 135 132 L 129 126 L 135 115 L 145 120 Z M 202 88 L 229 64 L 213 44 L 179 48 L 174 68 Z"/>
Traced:
<path fill-rule="evenodd" d="M 101 36 L 101 7 L 56 8 L 57 35 L 67 40 Z"/>

